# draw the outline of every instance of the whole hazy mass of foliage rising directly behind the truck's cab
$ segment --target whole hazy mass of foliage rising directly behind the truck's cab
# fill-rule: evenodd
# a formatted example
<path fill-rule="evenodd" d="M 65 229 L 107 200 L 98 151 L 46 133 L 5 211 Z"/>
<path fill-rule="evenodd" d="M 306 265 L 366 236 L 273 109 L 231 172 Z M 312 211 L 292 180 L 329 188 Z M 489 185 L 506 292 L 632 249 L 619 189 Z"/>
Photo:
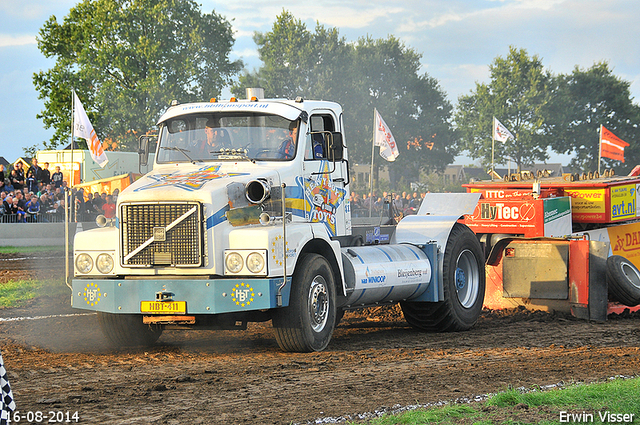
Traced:
<path fill-rule="evenodd" d="M 391 169 L 392 187 L 453 161 L 452 107 L 438 82 L 420 74 L 421 55 L 397 38 L 362 37 L 347 43 L 337 29 L 317 24 L 310 31 L 283 11 L 271 31 L 256 33 L 254 40 L 264 65 L 240 77 L 236 96 L 242 96 L 245 87 L 263 87 L 267 97 L 302 96 L 342 104 L 349 159 L 364 164 L 371 161 L 377 108 L 400 149 L 394 163 L 384 164 Z M 375 155 L 377 165 L 383 162 Z"/>

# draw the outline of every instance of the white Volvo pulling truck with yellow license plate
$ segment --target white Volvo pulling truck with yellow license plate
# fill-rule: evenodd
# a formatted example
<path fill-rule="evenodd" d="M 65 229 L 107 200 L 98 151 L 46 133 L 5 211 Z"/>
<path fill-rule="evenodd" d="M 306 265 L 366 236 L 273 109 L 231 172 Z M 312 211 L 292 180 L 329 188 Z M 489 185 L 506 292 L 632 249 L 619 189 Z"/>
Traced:
<path fill-rule="evenodd" d="M 97 311 L 112 343 L 271 320 L 283 350 L 319 351 L 345 310 L 398 302 L 419 330 L 475 324 L 484 256 L 458 220 L 478 195 L 428 196 L 363 245 L 340 105 L 174 102 L 158 125 L 153 170 L 121 192 L 115 219 L 75 236 L 73 307 Z"/>

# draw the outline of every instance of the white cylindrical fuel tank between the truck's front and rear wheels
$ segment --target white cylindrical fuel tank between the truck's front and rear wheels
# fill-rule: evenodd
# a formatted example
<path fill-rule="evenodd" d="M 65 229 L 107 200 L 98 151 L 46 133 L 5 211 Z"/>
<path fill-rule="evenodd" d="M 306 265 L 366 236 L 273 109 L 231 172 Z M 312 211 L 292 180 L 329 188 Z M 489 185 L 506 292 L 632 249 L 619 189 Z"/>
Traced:
<path fill-rule="evenodd" d="M 412 299 L 431 281 L 431 261 L 410 244 L 342 248 L 342 260 L 352 290 L 344 307 Z"/>

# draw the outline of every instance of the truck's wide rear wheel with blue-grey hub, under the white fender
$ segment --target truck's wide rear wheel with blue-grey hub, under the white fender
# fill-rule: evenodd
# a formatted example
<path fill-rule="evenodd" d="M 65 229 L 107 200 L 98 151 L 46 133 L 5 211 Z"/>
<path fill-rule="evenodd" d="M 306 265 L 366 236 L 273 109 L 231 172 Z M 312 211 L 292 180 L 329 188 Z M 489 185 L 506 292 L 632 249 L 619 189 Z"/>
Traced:
<path fill-rule="evenodd" d="M 405 320 L 428 332 L 470 329 L 482 312 L 485 271 L 482 245 L 467 226 L 451 229 L 442 267 L 444 301 L 400 303 Z"/>

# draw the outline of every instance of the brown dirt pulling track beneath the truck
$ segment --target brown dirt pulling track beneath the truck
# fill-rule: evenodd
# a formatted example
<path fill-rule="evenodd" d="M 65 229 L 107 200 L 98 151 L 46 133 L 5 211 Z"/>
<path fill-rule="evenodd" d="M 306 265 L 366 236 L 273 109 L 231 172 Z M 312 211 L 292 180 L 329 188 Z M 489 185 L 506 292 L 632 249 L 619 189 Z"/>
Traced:
<path fill-rule="evenodd" d="M 81 313 L 40 297 L 0 318 Z M 96 316 L 0 322 L 21 412 L 87 424 L 326 422 L 394 405 L 513 387 L 640 374 L 640 316 L 589 323 L 547 313 L 483 315 L 469 332 L 421 334 L 394 308 L 347 313 L 322 353 L 282 353 L 270 323 L 245 332 L 165 331 L 113 351 Z M 326 423 L 325 422 L 325 423 Z"/>

